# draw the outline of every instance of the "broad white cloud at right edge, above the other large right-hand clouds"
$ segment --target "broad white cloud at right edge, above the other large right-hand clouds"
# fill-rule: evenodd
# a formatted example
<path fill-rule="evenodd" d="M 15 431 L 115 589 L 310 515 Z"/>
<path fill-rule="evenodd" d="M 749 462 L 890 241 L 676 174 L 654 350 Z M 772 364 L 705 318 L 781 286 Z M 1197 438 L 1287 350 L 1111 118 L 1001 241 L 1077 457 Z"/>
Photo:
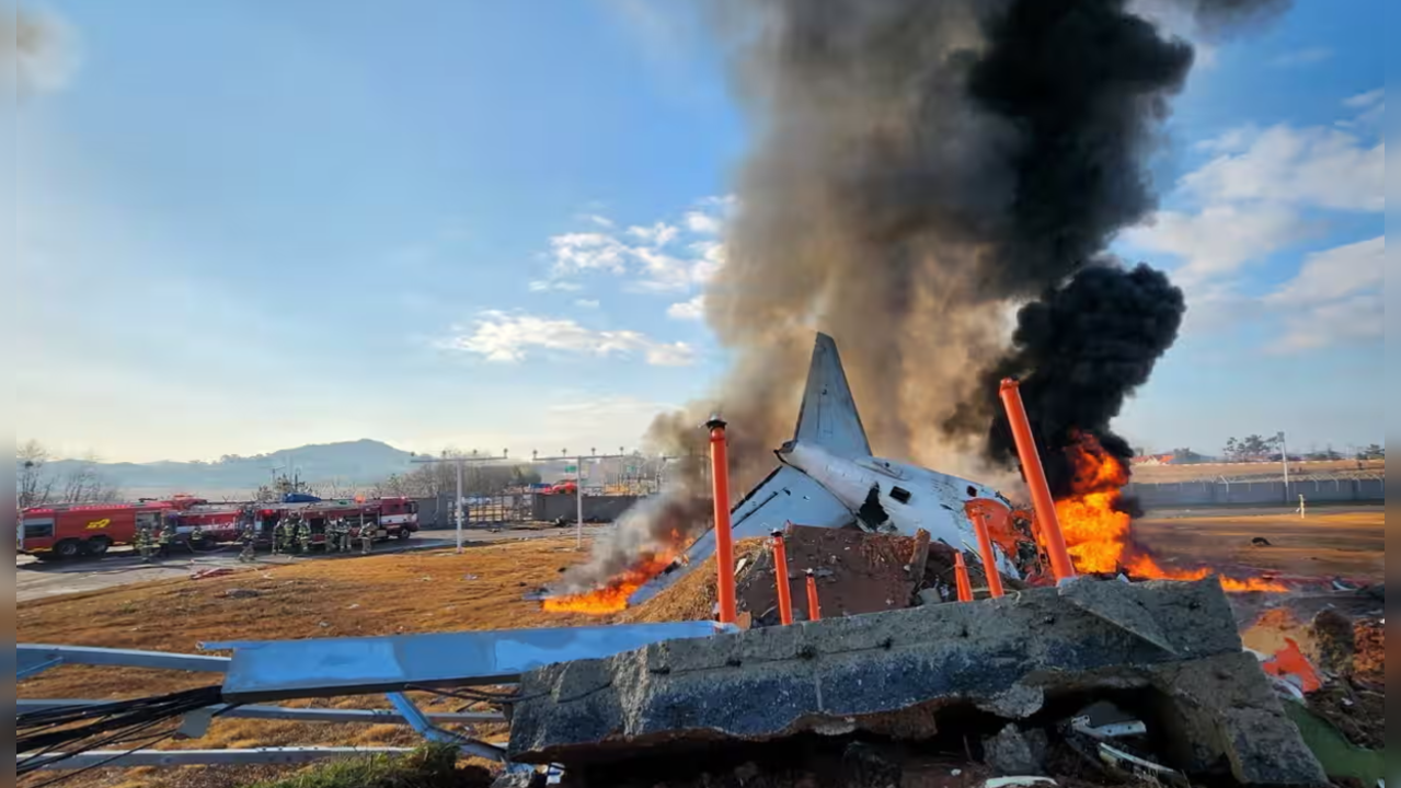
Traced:
<path fill-rule="evenodd" d="M 1349 211 L 1386 209 L 1386 143 L 1338 129 L 1275 126 L 1248 148 L 1182 179 L 1202 202 L 1268 202 Z"/>

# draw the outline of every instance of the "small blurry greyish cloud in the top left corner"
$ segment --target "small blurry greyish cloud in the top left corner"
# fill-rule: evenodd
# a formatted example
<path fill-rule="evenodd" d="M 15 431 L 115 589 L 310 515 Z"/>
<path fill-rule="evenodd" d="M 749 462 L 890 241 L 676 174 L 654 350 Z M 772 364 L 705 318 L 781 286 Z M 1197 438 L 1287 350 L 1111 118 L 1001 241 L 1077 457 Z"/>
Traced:
<path fill-rule="evenodd" d="M 21 90 L 62 91 L 73 83 L 81 64 L 77 32 L 52 11 L 20 7 L 0 18 L 0 66 Z"/>

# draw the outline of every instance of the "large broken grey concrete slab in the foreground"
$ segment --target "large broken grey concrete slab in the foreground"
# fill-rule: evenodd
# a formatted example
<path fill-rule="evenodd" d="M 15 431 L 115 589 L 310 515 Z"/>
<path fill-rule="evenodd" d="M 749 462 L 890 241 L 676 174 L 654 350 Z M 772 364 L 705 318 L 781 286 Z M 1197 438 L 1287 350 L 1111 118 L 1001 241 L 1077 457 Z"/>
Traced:
<path fill-rule="evenodd" d="M 511 760 L 562 763 L 580 784 L 643 756 L 813 735 L 922 740 L 950 719 L 1006 736 L 1009 757 L 1034 761 L 1040 733 L 1024 732 L 1105 696 L 1142 715 L 1167 743 L 1157 750 L 1164 766 L 1188 775 L 1327 782 L 1243 652 L 1213 579 L 1083 578 L 967 605 L 667 641 L 541 668 L 523 677 L 521 694 Z M 848 757 L 866 771 L 885 768 L 870 753 Z"/>

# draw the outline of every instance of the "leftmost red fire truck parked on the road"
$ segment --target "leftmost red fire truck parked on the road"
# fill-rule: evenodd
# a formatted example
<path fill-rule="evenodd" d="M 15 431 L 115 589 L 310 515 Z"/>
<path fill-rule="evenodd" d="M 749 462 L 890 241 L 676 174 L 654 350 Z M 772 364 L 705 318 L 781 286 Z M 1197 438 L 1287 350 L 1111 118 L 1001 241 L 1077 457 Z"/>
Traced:
<path fill-rule="evenodd" d="M 177 495 L 168 501 L 137 504 L 57 504 L 20 512 L 15 547 L 38 558 L 101 556 L 111 547 L 132 544 L 136 528 L 160 530 L 165 516 L 198 508 L 203 498 Z"/>

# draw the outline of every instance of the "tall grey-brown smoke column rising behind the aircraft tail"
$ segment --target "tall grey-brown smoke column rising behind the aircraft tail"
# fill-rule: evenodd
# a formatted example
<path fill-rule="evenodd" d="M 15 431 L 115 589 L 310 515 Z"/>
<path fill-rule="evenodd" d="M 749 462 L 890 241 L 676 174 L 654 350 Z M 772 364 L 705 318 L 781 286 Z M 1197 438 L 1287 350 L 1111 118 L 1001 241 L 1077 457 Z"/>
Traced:
<path fill-rule="evenodd" d="M 1201 31 L 1282 6 L 1170 3 Z M 1091 262 L 1104 272 L 1114 234 L 1154 209 L 1145 164 L 1192 48 L 1138 7 L 719 3 L 757 137 L 727 263 L 706 293 L 708 321 L 736 361 L 713 400 L 658 418 L 651 437 L 703 445 L 700 421 L 723 410 L 731 491 L 743 494 L 793 434 L 813 332 L 824 330 L 876 452 L 1005 474 L 989 462 L 991 414 L 978 403 L 1016 309 Z M 1108 270 L 1097 276 L 1128 276 Z M 667 537 L 646 519 L 633 528 L 646 533 L 629 542 Z M 600 565 L 626 558 L 611 550 L 601 546 Z"/>

